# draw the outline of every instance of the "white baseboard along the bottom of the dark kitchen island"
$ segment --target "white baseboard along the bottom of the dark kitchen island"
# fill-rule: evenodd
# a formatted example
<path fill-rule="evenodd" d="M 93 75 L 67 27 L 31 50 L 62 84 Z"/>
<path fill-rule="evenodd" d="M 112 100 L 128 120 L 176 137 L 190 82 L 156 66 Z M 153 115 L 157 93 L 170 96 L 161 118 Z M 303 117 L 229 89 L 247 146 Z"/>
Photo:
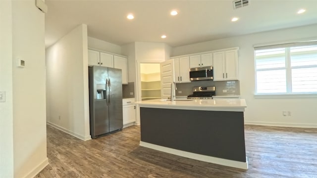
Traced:
<path fill-rule="evenodd" d="M 246 162 L 240 162 L 240 161 L 227 160 L 227 159 L 216 158 L 216 157 L 212 157 L 212 156 L 206 156 L 206 155 L 191 153 L 191 152 L 187 152 L 187 151 L 177 150 L 177 149 L 159 146 L 159 145 L 144 142 L 144 141 L 140 141 L 140 146 L 144 146 L 144 147 L 151 148 L 154 150 L 182 156 L 185 158 L 191 158 L 191 159 L 195 159 L 195 160 L 199 160 L 199 161 L 204 161 L 204 162 L 209 162 L 209 163 L 214 163 L 214 164 L 218 164 L 218 165 L 229 166 L 229 167 L 239 168 L 239 169 L 244 169 L 244 170 L 248 169 L 248 158 L 247 157 L 246 157 Z"/>

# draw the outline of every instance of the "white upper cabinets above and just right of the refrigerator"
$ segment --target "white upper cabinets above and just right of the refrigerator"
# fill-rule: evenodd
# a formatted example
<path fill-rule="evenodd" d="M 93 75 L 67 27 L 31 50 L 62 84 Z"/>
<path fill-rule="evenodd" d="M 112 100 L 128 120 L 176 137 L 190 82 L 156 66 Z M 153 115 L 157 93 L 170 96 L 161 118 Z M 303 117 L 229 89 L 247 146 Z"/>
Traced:
<path fill-rule="evenodd" d="M 122 70 L 122 84 L 128 84 L 128 58 L 88 49 L 88 65 L 111 67 Z"/>

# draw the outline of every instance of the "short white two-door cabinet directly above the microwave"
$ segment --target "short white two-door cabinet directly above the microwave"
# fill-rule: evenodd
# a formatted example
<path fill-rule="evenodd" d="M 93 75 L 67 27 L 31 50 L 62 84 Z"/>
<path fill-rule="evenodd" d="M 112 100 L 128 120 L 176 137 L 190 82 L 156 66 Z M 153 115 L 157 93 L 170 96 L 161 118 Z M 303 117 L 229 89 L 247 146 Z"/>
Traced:
<path fill-rule="evenodd" d="M 197 54 L 189 57 L 189 67 L 206 67 L 212 66 L 212 53 Z"/>

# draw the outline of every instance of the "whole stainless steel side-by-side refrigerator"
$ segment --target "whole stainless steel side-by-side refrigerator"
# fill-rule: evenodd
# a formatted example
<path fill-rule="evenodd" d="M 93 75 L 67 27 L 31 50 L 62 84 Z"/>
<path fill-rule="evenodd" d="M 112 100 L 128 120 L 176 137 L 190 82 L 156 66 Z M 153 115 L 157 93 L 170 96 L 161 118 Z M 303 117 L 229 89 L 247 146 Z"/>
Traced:
<path fill-rule="evenodd" d="M 121 69 L 92 66 L 89 71 L 90 134 L 97 138 L 121 130 Z"/>

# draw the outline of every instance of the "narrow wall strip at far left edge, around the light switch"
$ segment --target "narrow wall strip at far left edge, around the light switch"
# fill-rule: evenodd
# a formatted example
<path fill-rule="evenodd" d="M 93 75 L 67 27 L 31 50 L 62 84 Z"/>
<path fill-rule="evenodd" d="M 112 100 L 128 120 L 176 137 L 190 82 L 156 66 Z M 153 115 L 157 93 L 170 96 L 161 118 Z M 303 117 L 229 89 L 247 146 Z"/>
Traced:
<path fill-rule="evenodd" d="M 13 178 L 12 4 L 0 0 L 0 178 Z"/>

